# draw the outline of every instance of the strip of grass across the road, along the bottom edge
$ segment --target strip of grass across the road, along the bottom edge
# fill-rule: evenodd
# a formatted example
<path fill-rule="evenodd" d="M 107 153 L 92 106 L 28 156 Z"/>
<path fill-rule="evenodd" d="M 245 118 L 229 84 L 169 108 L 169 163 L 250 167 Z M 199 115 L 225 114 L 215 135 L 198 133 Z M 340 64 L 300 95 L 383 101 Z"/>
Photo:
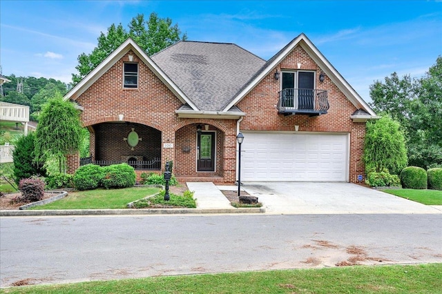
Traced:
<path fill-rule="evenodd" d="M 351 266 L 26 286 L 0 293 L 442 293 L 441 273 L 442 264 Z"/>

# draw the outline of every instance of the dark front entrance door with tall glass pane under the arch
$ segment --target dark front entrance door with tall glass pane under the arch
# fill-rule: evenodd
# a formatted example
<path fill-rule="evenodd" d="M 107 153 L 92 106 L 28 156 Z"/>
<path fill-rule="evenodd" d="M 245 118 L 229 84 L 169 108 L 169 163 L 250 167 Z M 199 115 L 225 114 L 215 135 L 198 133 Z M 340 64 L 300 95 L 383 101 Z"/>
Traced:
<path fill-rule="evenodd" d="M 215 133 L 198 133 L 198 171 L 215 171 Z"/>

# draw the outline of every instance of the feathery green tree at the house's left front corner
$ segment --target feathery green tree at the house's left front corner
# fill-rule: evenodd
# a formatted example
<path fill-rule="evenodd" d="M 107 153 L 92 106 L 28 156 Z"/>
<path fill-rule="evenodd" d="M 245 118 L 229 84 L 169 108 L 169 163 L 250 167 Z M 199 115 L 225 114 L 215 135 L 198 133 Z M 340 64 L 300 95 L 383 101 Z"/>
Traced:
<path fill-rule="evenodd" d="M 48 100 L 39 116 L 35 152 L 39 161 L 46 156 L 57 158 L 59 172 L 66 170 L 66 155 L 79 150 L 81 144 L 79 111 L 59 92 Z"/>

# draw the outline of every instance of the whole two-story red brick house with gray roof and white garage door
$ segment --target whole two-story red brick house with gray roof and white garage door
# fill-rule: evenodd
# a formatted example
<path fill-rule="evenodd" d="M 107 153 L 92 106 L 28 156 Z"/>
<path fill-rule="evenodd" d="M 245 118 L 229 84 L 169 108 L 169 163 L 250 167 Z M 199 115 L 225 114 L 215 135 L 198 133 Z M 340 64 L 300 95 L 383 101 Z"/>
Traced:
<path fill-rule="evenodd" d="M 374 111 L 303 34 L 265 61 L 231 43 L 180 41 L 148 57 L 126 40 L 68 94 L 91 160 L 181 181 L 356 182 Z M 68 157 L 70 172 L 79 166 Z"/>

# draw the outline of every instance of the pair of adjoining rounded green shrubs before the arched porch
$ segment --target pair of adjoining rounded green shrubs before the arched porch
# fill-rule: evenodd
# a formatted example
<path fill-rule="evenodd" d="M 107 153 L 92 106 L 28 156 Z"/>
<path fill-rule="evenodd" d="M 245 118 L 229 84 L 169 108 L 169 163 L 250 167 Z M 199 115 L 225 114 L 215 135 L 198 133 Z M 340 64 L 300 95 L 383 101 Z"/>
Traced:
<path fill-rule="evenodd" d="M 77 169 L 73 182 L 77 190 L 94 190 L 100 186 L 107 189 L 128 188 L 135 185 L 135 178 L 135 170 L 128 164 L 86 164 Z"/>

